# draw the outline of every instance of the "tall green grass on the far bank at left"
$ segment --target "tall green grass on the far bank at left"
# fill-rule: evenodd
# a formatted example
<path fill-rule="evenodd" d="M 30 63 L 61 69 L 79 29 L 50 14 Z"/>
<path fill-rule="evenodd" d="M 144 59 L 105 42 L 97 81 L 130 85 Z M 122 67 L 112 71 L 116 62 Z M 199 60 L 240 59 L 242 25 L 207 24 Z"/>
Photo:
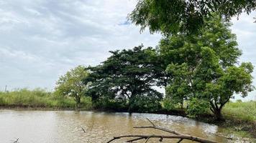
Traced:
<path fill-rule="evenodd" d="M 72 97 L 60 97 L 45 89 L 17 89 L 13 92 L 0 92 L 1 107 L 39 107 L 52 109 L 76 109 Z M 91 109 L 91 99 L 81 99 L 81 109 Z"/>

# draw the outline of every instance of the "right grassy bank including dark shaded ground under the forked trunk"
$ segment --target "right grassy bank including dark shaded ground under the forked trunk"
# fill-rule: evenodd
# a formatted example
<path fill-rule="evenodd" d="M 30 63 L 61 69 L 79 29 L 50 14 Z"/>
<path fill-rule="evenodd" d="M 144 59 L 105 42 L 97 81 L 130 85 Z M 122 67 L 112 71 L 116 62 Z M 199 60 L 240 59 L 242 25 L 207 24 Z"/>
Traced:
<path fill-rule="evenodd" d="M 219 135 L 243 142 L 256 142 L 256 102 L 229 102 L 222 110 L 224 122 L 216 122 L 214 115 L 204 114 L 197 120 L 221 127 Z"/>

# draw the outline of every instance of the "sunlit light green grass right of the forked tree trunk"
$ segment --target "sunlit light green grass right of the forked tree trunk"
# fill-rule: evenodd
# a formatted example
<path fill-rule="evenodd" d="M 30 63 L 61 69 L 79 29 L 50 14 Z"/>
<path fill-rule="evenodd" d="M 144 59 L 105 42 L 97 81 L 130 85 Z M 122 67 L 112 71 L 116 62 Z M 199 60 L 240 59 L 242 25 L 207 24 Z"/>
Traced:
<path fill-rule="evenodd" d="M 224 117 L 256 122 L 256 102 L 229 102 L 223 109 Z"/>

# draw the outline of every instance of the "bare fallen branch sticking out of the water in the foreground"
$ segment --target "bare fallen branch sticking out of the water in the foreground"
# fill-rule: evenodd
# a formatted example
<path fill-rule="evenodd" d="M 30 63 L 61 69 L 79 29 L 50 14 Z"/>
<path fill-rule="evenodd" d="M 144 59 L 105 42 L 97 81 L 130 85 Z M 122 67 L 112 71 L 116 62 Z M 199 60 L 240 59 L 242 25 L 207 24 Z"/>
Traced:
<path fill-rule="evenodd" d="M 127 142 L 134 142 L 134 141 L 138 141 L 140 139 L 146 139 L 145 143 L 151 139 L 151 138 L 157 138 L 159 139 L 160 142 L 163 141 L 163 139 L 179 139 L 178 142 L 182 142 L 183 139 L 188 139 L 194 142 L 201 142 L 201 143 L 216 143 L 214 141 L 208 140 L 208 139 L 204 139 L 201 137 L 195 137 L 195 136 L 191 136 L 188 134 L 181 134 L 179 132 L 176 132 L 174 130 L 171 129 L 166 129 L 164 127 L 160 127 L 160 126 L 156 126 L 153 122 L 150 121 L 150 119 L 147 119 L 152 125 L 151 126 L 142 126 L 142 127 L 134 127 L 134 128 L 139 128 L 139 129 L 158 129 L 160 131 L 163 132 L 168 132 L 172 135 L 140 135 L 140 134 L 134 134 L 134 135 L 124 135 L 124 136 L 118 136 L 118 137 L 113 137 L 113 139 L 109 140 L 109 142 L 113 142 L 116 139 L 122 139 L 122 138 L 133 138 L 133 139 L 129 139 L 127 140 Z M 109 143 L 107 142 L 107 143 Z"/>

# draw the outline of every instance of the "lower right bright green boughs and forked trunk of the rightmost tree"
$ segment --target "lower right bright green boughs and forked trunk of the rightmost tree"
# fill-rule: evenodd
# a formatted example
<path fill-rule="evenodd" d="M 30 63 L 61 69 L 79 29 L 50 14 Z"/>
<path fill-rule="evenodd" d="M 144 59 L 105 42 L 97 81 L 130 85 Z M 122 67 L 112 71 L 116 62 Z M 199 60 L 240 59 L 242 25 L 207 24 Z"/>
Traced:
<path fill-rule="evenodd" d="M 252 70 L 251 63 L 242 63 L 240 66 L 229 66 L 224 74 L 215 82 L 206 83 L 204 94 L 206 99 L 210 99 L 211 112 L 216 118 L 223 119 L 221 110 L 233 94 L 241 94 L 246 97 L 248 92 L 252 92 Z"/>

